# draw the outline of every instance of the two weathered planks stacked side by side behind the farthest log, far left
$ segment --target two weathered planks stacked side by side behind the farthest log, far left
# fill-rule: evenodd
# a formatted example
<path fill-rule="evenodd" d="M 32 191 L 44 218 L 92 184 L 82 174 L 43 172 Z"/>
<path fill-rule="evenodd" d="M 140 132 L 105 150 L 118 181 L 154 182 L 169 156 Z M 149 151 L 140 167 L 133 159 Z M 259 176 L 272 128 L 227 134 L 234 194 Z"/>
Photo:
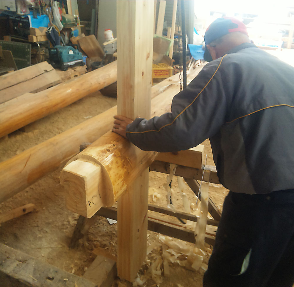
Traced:
<path fill-rule="evenodd" d="M 36 93 L 61 83 L 61 77 L 48 62 L 14 71 L 0 77 L 0 103 L 25 93 Z"/>

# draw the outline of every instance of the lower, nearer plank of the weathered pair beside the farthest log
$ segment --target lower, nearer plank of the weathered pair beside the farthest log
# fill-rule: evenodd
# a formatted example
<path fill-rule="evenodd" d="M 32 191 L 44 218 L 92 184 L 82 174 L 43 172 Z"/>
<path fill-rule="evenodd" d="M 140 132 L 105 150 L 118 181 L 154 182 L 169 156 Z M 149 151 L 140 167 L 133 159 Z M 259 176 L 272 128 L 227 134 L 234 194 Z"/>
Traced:
<path fill-rule="evenodd" d="M 0 91 L 0 104 L 26 93 L 36 93 L 46 90 L 52 86 L 61 83 L 61 78 L 53 69 L 49 72 L 46 70 L 30 80 L 21 82 L 14 86 L 10 86 Z"/>

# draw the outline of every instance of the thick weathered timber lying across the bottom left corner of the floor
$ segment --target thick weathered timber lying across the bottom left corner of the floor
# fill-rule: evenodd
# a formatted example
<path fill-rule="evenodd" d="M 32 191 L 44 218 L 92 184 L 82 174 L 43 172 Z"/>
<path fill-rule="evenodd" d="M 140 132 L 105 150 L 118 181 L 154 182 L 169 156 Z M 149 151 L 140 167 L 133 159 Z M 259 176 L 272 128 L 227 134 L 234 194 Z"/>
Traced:
<path fill-rule="evenodd" d="M 1 287 L 97 287 L 85 278 L 61 270 L 0 243 Z"/>

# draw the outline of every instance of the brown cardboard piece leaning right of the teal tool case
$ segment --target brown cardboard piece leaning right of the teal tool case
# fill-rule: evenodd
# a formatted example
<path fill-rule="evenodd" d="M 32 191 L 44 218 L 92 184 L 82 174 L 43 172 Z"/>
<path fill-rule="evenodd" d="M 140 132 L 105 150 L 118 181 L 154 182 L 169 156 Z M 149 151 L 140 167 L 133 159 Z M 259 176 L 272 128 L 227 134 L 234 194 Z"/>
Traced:
<path fill-rule="evenodd" d="M 78 44 L 91 60 L 101 61 L 103 59 L 105 53 L 94 35 L 80 38 Z"/>

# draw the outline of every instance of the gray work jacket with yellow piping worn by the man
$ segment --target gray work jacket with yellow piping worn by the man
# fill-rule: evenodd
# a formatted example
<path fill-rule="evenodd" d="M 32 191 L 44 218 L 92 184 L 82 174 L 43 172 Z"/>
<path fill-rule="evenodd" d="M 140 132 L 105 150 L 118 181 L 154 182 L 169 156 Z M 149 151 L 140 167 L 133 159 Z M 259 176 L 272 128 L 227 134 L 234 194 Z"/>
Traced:
<path fill-rule="evenodd" d="M 143 150 L 179 151 L 209 138 L 220 182 L 234 192 L 294 188 L 294 68 L 252 43 L 203 67 L 171 113 L 127 126 Z"/>

